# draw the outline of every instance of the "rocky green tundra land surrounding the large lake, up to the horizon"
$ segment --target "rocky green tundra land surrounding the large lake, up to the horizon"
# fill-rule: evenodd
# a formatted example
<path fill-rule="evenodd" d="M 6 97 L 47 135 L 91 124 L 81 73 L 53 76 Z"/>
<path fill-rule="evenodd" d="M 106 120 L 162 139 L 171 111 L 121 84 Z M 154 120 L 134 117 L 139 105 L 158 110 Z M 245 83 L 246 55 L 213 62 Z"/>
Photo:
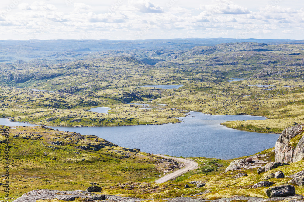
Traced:
<path fill-rule="evenodd" d="M 10 194 L 1 190 L 2 201 L 304 200 L 303 41 L 24 44 L 0 42 L 0 117 L 37 126 L 0 123 L 0 166 L 10 162 Z M 91 110 L 100 107 L 108 111 Z M 178 124 L 193 111 L 266 117 L 221 125 L 280 136 L 272 148 L 227 160 L 158 156 L 50 128 Z M 186 160 L 195 165 L 188 172 L 155 182 L 188 168 Z M 1 174 L 5 190 L 5 170 Z"/>

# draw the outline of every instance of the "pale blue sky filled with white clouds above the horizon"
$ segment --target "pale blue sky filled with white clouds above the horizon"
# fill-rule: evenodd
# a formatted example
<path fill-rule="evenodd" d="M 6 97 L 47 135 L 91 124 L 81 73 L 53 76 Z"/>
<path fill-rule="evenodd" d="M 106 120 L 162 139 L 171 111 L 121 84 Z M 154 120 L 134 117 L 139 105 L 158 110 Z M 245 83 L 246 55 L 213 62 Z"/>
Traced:
<path fill-rule="evenodd" d="M 304 39 L 303 0 L 2 0 L 0 40 Z"/>

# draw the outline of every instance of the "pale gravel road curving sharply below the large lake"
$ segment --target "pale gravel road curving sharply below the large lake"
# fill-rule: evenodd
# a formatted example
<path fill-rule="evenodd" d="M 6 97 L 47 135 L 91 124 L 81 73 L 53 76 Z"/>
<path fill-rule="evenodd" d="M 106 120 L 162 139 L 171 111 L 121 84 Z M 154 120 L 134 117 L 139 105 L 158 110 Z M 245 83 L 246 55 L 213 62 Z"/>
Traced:
<path fill-rule="evenodd" d="M 175 177 L 178 177 L 181 174 L 187 173 L 189 170 L 195 170 L 195 169 L 197 169 L 197 167 L 199 165 L 195 161 L 191 161 L 191 160 L 188 160 L 188 159 L 174 158 L 174 157 L 169 157 L 169 156 L 165 156 L 165 155 L 161 155 L 161 154 L 155 154 L 155 155 L 161 156 L 161 157 L 166 158 L 166 159 L 174 159 L 177 162 L 185 163 L 185 167 L 183 169 L 174 171 L 173 173 L 170 173 L 168 175 L 165 175 L 165 176 L 159 178 L 158 180 L 155 180 L 154 182 L 156 182 L 156 183 L 167 182 L 168 180 L 171 180 L 171 179 L 173 179 Z"/>

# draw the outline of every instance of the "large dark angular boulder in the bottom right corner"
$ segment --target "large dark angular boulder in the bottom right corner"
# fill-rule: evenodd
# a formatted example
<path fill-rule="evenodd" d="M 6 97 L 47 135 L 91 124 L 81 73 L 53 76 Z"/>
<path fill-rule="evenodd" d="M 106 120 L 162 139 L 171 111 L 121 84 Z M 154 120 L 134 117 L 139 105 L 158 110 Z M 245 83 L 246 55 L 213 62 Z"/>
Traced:
<path fill-rule="evenodd" d="M 266 190 L 269 198 L 287 197 L 295 195 L 295 187 L 290 184 L 283 184 L 279 186 L 270 187 Z"/>

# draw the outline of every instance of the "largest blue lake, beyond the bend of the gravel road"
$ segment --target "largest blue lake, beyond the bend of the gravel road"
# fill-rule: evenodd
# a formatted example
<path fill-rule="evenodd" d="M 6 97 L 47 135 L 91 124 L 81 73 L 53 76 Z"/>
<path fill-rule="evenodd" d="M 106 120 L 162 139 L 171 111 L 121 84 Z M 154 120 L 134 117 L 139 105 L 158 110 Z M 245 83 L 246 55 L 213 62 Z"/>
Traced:
<path fill-rule="evenodd" d="M 194 117 L 192 117 L 194 116 Z M 172 156 L 199 156 L 232 159 L 248 156 L 275 146 L 279 135 L 248 132 L 220 125 L 230 120 L 264 120 L 248 115 L 204 115 L 191 112 L 183 122 L 163 125 L 121 127 L 50 127 L 83 135 L 96 135 L 126 148 Z M 1 118 L 2 125 L 9 125 Z M 22 125 L 22 123 L 18 123 Z"/>

